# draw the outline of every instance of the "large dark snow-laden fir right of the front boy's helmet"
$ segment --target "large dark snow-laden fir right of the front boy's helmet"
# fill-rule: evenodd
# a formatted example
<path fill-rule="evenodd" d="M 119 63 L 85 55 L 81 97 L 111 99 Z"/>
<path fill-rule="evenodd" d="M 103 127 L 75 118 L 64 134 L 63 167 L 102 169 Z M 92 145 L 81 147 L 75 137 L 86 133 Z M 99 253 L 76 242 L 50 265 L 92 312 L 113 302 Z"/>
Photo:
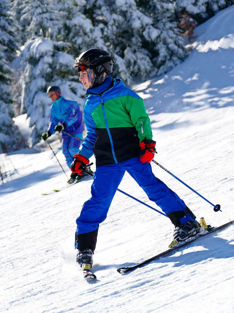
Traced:
<path fill-rule="evenodd" d="M 171 3 L 87 0 L 83 7 L 82 12 L 92 16 L 94 26 L 101 30 L 115 69 L 127 83 L 133 76 L 165 73 L 186 57 Z"/>

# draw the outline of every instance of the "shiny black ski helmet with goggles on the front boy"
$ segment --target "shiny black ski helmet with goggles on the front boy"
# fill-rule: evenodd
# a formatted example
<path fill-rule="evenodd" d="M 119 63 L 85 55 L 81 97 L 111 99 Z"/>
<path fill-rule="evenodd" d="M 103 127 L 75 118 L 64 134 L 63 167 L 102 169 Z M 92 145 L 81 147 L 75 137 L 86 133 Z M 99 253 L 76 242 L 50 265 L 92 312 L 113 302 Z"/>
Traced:
<path fill-rule="evenodd" d="M 89 63 L 90 65 L 86 65 Z M 89 67 L 93 69 L 94 73 L 99 77 L 104 72 L 106 74 L 112 73 L 114 61 L 112 56 L 106 50 L 100 48 L 92 48 L 85 50 L 78 56 L 75 60 L 75 64 L 73 67 L 77 67 L 78 72 L 85 69 L 85 67 Z M 84 68 L 82 66 L 85 66 Z"/>

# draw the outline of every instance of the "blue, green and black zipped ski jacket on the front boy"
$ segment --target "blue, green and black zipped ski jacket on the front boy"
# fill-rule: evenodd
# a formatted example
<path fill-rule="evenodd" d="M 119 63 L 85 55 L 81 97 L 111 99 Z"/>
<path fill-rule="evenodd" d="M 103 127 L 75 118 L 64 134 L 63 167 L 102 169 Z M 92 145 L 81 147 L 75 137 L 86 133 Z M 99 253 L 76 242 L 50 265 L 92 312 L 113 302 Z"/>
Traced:
<path fill-rule="evenodd" d="M 107 77 L 86 91 L 84 121 L 87 128 L 83 156 L 96 157 L 96 166 L 114 164 L 140 155 L 139 143 L 152 139 L 143 99 L 121 79 Z"/>

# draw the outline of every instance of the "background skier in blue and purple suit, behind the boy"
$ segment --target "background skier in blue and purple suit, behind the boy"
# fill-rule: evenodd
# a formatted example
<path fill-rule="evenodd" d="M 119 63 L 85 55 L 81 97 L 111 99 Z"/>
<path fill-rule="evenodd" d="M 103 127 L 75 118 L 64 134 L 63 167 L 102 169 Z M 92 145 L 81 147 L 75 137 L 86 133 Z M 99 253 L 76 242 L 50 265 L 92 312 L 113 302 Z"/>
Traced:
<path fill-rule="evenodd" d="M 50 122 L 47 132 L 41 135 L 44 141 L 47 140 L 56 131 L 63 130 L 78 138 L 83 138 L 84 125 L 79 105 L 76 101 L 67 100 L 62 96 L 61 89 L 58 86 L 49 86 L 47 89 L 52 105 L 50 108 Z M 62 152 L 66 158 L 68 167 L 73 161 L 73 155 L 81 145 L 81 141 L 73 136 L 62 132 Z M 80 178 L 77 173 L 71 173 L 68 183 L 73 183 L 75 179 Z"/>

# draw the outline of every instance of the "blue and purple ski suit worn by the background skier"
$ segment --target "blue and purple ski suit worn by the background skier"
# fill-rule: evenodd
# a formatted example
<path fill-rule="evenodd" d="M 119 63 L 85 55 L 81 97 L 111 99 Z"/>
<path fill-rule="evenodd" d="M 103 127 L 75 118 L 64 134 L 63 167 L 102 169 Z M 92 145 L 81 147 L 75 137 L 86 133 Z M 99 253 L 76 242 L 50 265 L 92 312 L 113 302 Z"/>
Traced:
<path fill-rule="evenodd" d="M 82 113 L 76 101 L 67 100 L 63 96 L 52 102 L 50 107 L 50 123 L 48 131 L 55 133 L 54 127 L 58 124 L 66 124 L 64 131 L 82 139 L 84 124 L 82 121 Z M 66 158 L 67 166 L 70 168 L 73 155 L 77 153 L 81 141 L 62 133 L 62 152 Z"/>

